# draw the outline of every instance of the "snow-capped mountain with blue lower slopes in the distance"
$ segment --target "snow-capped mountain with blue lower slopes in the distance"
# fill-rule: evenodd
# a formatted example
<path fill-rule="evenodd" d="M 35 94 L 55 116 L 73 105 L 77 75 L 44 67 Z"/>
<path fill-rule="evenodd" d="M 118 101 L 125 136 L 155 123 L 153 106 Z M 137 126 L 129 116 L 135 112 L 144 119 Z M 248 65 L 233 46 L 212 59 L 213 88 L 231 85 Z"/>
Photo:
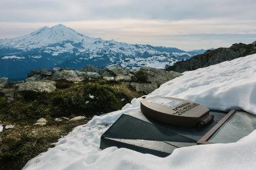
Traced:
<path fill-rule="evenodd" d="M 0 40 L 0 77 L 22 78 L 31 69 L 85 65 L 163 68 L 192 54 L 163 46 L 127 44 L 82 35 L 62 24 L 29 35 Z"/>

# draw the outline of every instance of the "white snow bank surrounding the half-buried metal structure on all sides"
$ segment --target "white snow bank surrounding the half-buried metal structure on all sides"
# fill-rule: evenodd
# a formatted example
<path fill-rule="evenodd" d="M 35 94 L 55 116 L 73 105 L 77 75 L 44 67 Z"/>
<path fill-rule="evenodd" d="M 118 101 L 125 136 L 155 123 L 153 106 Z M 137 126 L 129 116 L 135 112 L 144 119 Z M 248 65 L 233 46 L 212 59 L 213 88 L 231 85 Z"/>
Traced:
<path fill-rule="evenodd" d="M 188 71 L 148 96 L 173 96 L 210 109 L 242 108 L 256 114 L 256 54 Z M 255 169 L 256 131 L 235 143 L 177 148 L 167 158 L 126 148 L 100 150 L 100 137 L 121 114 L 139 108 L 133 99 L 121 111 L 94 116 L 73 129 L 23 169 Z"/>

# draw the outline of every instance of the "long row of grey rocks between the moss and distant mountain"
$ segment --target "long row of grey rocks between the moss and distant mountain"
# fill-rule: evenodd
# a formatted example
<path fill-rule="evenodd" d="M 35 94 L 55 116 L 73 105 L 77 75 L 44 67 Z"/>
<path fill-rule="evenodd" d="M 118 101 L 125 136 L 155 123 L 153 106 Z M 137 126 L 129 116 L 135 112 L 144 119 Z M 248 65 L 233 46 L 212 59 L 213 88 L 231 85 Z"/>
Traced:
<path fill-rule="evenodd" d="M 56 89 L 56 82 L 68 80 L 69 82 L 82 82 L 84 80 L 104 79 L 107 81 L 123 82 L 137 92 L 149 94 L 168 80 L 174 79 L 182 74 L 174 71 L 165 71 L 151 67 L 142 67 L 139 70 L 129 70 L 120 66 L 111 66 L 105 69 L 97 69 L 87 66 L 83 71 L 72 69 L 54 68 L 53 70 L 32 70 L 25 82 L 7 82 L 7 78 L 1 78 L 0 92 L 9 101 L 22 98 L 21 91 L 52 92 Z M 92 72 L 96 71 L 96 72 Z M 10 87 L 9 85 L 10 84 Z M 3 88 L 4 87 L 4 88 Z"/>

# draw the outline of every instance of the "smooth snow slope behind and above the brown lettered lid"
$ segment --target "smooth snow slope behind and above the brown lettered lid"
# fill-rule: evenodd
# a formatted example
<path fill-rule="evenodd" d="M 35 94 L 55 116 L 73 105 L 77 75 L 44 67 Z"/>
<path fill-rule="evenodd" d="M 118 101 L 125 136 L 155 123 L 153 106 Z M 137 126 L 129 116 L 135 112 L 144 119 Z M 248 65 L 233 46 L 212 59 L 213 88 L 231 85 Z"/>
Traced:
<path fill-rule="evenodd" d="M 209 109 L 243 109 L 256 114 L 256 54 L 187 71 L 150 96 L 192 100 Z"/>

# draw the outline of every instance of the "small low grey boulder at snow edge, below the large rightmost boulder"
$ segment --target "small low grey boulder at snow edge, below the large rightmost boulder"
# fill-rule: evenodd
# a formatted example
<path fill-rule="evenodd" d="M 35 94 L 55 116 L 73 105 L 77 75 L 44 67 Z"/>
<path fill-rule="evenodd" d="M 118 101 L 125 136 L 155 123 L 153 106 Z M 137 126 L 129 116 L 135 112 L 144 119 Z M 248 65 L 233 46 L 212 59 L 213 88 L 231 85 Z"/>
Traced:
<path fill-rule="evenodd" d="M 143 92 L 145 94 L 150 94 L 152 91 L 158 88 L 158 84 L 156 83 L 137 83 L 131 82 L 130 86 L 134 88 L 137 92 Z"/>

